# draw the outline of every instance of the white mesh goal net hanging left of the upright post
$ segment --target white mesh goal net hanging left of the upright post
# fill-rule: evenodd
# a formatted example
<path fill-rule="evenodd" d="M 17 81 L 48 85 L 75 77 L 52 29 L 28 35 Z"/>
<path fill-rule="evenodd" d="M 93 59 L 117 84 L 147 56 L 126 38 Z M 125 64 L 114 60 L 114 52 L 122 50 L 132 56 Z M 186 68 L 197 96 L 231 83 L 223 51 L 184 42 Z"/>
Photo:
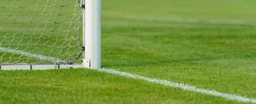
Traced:
<path fill-rule="evenodd" d="M 82 53 L 79 3 L 0 0 L 0 65 L 74 64 Z"/>

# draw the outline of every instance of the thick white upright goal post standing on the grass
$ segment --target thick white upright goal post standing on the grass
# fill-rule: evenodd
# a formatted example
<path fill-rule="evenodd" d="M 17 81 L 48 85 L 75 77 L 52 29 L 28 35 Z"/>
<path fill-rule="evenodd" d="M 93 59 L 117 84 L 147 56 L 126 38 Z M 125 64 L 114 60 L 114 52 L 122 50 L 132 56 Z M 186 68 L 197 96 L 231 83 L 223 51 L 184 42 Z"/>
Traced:
<path fill-rule="evenodd" d="M 85 0 L 84 4 L 83 65 L 101 68 L 101 0 Z"/>

